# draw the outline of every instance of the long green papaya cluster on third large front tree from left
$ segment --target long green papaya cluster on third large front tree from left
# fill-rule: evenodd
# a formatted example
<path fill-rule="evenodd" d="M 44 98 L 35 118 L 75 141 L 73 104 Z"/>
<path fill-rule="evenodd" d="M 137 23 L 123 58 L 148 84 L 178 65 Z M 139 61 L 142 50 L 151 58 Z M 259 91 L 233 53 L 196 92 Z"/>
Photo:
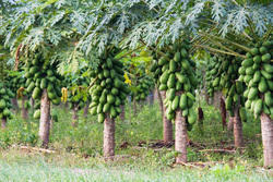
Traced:
<path fill-rule="evenodd" d="M 158 77 L 159 90 L 166 90 L 166 113 L 168 120 L 175 119 L 175 111 L 182 110 L 189 124 L 195 122 L 193 114 L 194 88 L 198 81 L 194 77 L 195 63 L 189 58 L 189 41 L 168 46 L 167 53 L 157 58 L 151 71 Z"/>

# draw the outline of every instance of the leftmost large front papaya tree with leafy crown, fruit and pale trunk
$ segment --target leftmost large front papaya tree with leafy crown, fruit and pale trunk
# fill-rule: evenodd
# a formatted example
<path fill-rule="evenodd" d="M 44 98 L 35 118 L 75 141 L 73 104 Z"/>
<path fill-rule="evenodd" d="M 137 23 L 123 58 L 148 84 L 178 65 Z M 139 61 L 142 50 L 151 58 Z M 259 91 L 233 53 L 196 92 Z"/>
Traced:
<path fill-rule="evenodd" d="M 59 1 L 25 1 L 11 12 L 12 17 L 4 20 L 5 46 L 15 57 L 15 65 L 21 58 L 25 60 L 27 92 L 34 99 L 40 99 L 39 137 L 44 147 L 49 142 L 50 104 L 58 105 L 61 97 L 60 81 L 57 72 L 61 58 L 59 52 L 72 44 L 75 29 L 81 28 L 75 14 L 79 3 Z M 80 34 L 80 33 L 79 33 Z M 38 112 L 37 112 L 38 116 Z"/>

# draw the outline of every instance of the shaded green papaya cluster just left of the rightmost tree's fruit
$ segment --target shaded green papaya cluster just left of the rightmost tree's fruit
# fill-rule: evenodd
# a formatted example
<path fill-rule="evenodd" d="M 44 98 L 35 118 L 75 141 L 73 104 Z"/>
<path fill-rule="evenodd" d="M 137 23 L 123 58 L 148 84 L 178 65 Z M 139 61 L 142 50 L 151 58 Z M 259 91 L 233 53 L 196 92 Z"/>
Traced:
<path fill-rule="evenodd" d="M 213 57 L 210 59 L 206 70 L 206 87 L 210 96 L 219 90 L 226 98 L 226 109 L 234 116 L 235 107 L 239 107 L 241 121 L 247 121 L 245 97 L 242 96 L 246 85 L 238 81 L 240 60 L 230 56 Z"/>

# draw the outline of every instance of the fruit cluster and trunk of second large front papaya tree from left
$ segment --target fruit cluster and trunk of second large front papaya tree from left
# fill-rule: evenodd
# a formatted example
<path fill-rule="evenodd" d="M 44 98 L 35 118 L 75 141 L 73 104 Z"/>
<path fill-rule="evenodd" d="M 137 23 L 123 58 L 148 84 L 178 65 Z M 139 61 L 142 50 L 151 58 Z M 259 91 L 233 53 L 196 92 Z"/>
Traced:
<path fill-rule="evenodd" d="M 97 114 L 98 122 L 104 122 L 104 157 L 110 159 L 115 155 L 115 119 L 130 92 L 124 83 L 123 64 L 115 59 L 118 52 L 115 47 L 105 49 L 98 66 L 91 72 L 91 114 Z"/>

